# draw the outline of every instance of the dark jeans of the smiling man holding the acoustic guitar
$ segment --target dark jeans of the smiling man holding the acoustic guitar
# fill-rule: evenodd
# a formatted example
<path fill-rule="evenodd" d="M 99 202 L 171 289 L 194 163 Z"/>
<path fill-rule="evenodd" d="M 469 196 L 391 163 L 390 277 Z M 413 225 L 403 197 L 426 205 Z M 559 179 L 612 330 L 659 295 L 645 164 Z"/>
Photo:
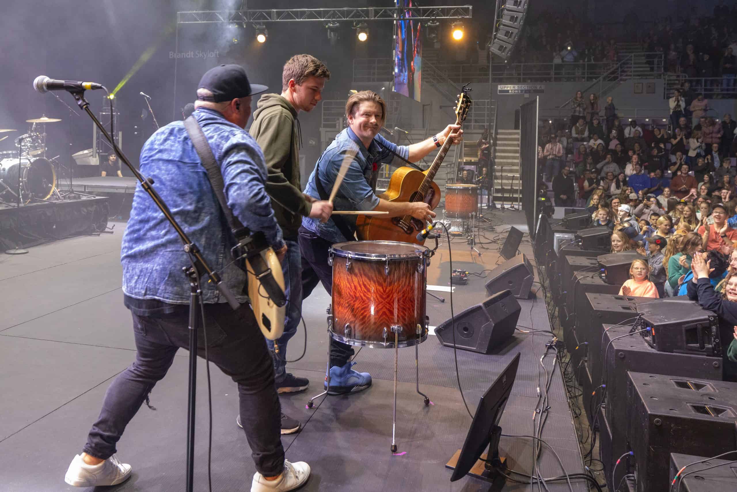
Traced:
<path fill-rule="evenodd" d="M 327 264 L 330 246 L 312 231 L 299 228 L 299 251 L 302 254 L 302 301 L 307 299 L 318 282 L 322 282 L 328 294 L 332 295 L 332 266 Z M 355 351 L 349 344 L 332 340 L 330 342 L 330 367 L 346 365 Z"/>

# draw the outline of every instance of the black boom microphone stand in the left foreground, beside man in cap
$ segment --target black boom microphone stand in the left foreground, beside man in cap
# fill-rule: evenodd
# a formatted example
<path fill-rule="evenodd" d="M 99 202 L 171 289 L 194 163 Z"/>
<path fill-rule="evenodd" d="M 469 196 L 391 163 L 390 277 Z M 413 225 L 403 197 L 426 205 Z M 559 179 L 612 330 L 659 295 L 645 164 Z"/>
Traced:
<path fill-rule="evenodd" d="M 103 87 L 102 89 L 105 90 L 105 92 L 108 91 L 108 89 L 105 89 Z M 148 193 L 148 195 L 151 197 L 153 202 L 156 204 L 156 207 L 161 210 L 161 213 L 164 214 L 164 217 L 169 221 L 169 223 L 172 225 L 174 230 L 179 235 L 179 238 L 181 239 L 183 245 L 184 245 L 184 252 L 189 256 L 189 261 L 192 263 L 192 266 L 185 266 L 182 268 L 184 271 L 184 274 L 186 277 L 189 278 L 189 400 L 188 400 L 188 407 L 187 407 L 187 445 L 186 445 L 186 491 L 187 492 L 193 492 L 193 485 L 194 485 L 194 477 L 195 477 L 195 391 L 196 391 L 196 384 L 197 384 L 197 346 L 198 346 L 198 329 L 200 324 L 200 317 L 203 316 L 200 313 L 200 302 L 202 291 L 200 288 L 200 283 L 203 277 L 203 274 L 209 277 L 209 282 L 214 283 L 214 285 L 217 287 L 217 290 L 220 292 L 220 294 L 223 294 L 223 297 L 228 301 L 228 304 L 233 308 L 233 310 L 237 310 L 240 308 L 240 303 L 237 301 L 237 299 L 234 297 L 233 293 L 230 291 L 227 285 L 223 283 L 223 280 L 220 278 L 220 274 L 217 273 L 217 271 L 214 271 L 210 266 L 208 265 L 207 261 L 205 260 L 205 257 L 203 256 L 202 252 L 200 252 L 200 249 L 198 246 L 192 242 L 192 240 L 189 239 L 189 237 L 186 235 L 186 232 L 184 232 L 184 229 L 181 228 L 181 226 L 177 223 L 176 219 L 172 215 L 172 212 L 170 211 L 169 207 L 167 207 L 167 204 L 164 203 L 164 200 L 161 198 L 158 193 L 156 193 L 156 190 L 153 189 L 153 179 L 147 178 L 143 176 L 141 173 L 139 173 L 139 170 L 136 169 L 136 167 L 133 166 L 133 164 L 130 164 L 130 161 L 128 160 L 128 157 L 125 156 L 125 154 L 120 150 L 118 145 L 115 143 L 115 141 L 112 139 L 111 135 L 108 134 L 108 132 L 105 130 L 105 127 L 102 126 L 102 123 L 99 122 L 99 119 L 95 117 L 94 113 L 89 108 L 89 103 L 85 100 L 84 97 L 84 90 L 78 90 L 78 89 L 67 89 L 69 93 L 74 96 L 74 100 L 77 101 L 77 105 L 85 111 L 85 113 L 88 114 L 88 116 L 92 119 L 94 122 L 94 125 L 99 128 L 99 131 L 102 132 L 102 135 L 105 136 L 105 139 L 108 140 L 108 142 L 111 143 L 113 146 L 113 150 L 118 155 L 120 160 L 122 162 L 125 162 L 125 165 L 128 166 L 128 169 L 133 173 L 133 176 L 136 176 L 136 179 L 139 180 L 139 183 L 141 184 L 141 187 L 143 190 Z"/>

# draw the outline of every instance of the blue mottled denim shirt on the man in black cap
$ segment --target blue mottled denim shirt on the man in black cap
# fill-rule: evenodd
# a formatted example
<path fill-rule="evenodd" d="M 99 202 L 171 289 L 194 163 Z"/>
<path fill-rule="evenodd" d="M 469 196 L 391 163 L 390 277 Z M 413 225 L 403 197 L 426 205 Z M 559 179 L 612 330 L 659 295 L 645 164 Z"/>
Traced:
<path fill-rule="evenodd" d="M 251 231 L 264 232 L 271 246 L 282 247 L 282 230 L 264 189 L 264 156 L 256 141 L 217 111 L 198 108 L 194 116 L 220 164 L 228 207 Z M 245 302 L 245 273 L 231 263 L 235 238 L 184 122 L 171 122 L 147 140 L 141 150 L 141 172 L 153 179 L 153 188 L 209 266 L 220 273 L 235 297 Z M 175 230 L 140 184 L 123 235 L 121 263 L 126 296 L 189 303 L 189 282 L 182 272 L 183 266 L 190 266 L 189 257 Z M 204 277 L 201 282 L 203 301 L 226 302 L 207 280 Z"/>

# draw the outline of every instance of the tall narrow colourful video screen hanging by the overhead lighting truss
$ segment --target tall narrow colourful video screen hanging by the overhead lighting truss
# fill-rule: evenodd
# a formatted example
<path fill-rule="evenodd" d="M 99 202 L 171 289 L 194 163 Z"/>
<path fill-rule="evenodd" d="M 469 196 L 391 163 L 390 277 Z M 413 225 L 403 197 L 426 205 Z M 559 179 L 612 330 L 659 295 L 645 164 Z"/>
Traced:
<path fill-rule="evenodd" d="M 413 7 L 412 0 L 396 0 L 399 9 Z M 419 103 L 422 86 L 422 23 L 404 10 L 405 20 L 394 21 L 394 92 Z"/>

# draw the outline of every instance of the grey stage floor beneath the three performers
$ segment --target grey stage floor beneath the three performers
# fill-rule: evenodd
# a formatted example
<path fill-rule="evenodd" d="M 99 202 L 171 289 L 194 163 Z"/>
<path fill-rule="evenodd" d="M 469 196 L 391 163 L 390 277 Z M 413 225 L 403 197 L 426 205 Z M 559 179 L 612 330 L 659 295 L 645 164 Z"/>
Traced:
<path fill-rule="evenodd" d="M 487 214 L 491 216 L 492 214 Z M 497 232 L 509 225 L 522 229 L 521 212 L 495 214 Z M 112 224 L 111 224 L 112 225 Z M 97 418 L 105 389 L 133 360 L 135 347 L 130 314 L 122 305 L 119 263 L 125 224 L 113 235 L 61 240 L 38 246 L 29 254 L 0 257 L 0 492 L 78 490 L 63 481 L 66 468 L 80 452 L 91 423 Z M 495 236 L 487 232 L 487 238 Z M 506 237 L 506 232 L 500 238 Z M 527 238 L 525 238 L 527 239 Z M 450 253 L 453 268 L 481 272 L 494 268 L 497 246 L 470 254 L 454 240 L 441 246 L 428 270 L 428 284 L 447 287 Z M 532 258 L 525 240 L 520 247 Z M 456 285 L 456 314 L 485 299 L 485 280 L 470 277 Z M 537 284 L 534 287 L 537 290 Z M 450 317 L 450 293 L 444 303 L 428 297 L 430 325 Z M 357 370 L 371 373 L 373 386 L 355 395 L 328 397 L 312 409 L 305 403 L 321 392 L 326 365 L 326 292 L 319 288 L 304 303 L 307 350 L 288 369 L 310 379 L 306 392 L 282 395 L 287 415 L 304 424 L 299 434 L 282 437 L 287 459 L 304 460 L 312 477 L 304 491 L 486 491 L 489 485 L 472 477 L 450 483 L 445 462 L 464 443 L 471 419 L 455 379 L 453 349 L 435 336 L 419 346 L 420 390 L 433 402 L 422 403 L 415 392 L 414 350 L 399 350 L 397 397 L 398 456 L 389 451 L 394 351 L 363 349 Z M 542 291 L 535 299 L 520 299 L 520 327 L 549 330 Z M 472 412 L 483 391 L 518 352 L 517 379 L 500 425 L 504 434 L 533 434 L 532 412 L 537 403 L 539 358 L 549 334 L 517 332 L 496 355 L 458 350 L 458 370 Z M 290 342 L 289 358 L 304 347 L 304 332 Z M 156 412 L 142 406 L 118 446 L 118 456 L 133 465 L 133 476 L 114 491 L 181 491 L 184 489 L 186 440 L 187 356 L 180 350 L 172 368 L 151 393 Z M 549 361 L 550 358 L 546 358 Z M 550 367 L 550 362 L 546 364 Z M 198 370 L 198 428 L 195 490 L 207 490 L 207 393 L 204 362 Z M 217 491 L 248 491 L 255 468 L 245 435 L 237 428 L 237 388 L 212 367 L 212 480 Z M 542 373 L 542 378 L 545 374 Z M 559 365 L 550 389 L 550 415 L 542 434 L 562 458 L 568 473 L 583 471 L 581 451 Z M 501 453 L 514 470 L 531 471 L 532 441 L 502 437 Z M 540 459 L 544 477 L 562 474 L 551 451 Z M 581 479 L 571 479 L 576 491 L 587 491 Z M 567 491 L 564 482 L 548 483 L 551 491 Z M 91 489 L 90 489 L 91 490 Z M 508 482 L 505 490 L 528 491 L 530 485 Z"/>

